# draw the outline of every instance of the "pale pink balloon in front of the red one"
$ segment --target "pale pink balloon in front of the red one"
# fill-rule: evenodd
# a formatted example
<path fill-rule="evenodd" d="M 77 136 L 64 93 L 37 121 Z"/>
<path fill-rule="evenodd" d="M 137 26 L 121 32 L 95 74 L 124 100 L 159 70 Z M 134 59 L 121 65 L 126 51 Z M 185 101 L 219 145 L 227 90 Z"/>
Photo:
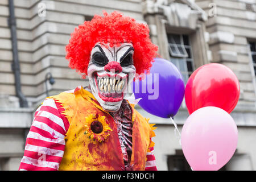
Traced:
<path fill-rule="evenodd" d="M 202 107 L 193 112 L 181 131 L 181 146 L 195 171 L 216 171 L 232 158 L 238 131 L 233 118 L 218 107 Z"/>

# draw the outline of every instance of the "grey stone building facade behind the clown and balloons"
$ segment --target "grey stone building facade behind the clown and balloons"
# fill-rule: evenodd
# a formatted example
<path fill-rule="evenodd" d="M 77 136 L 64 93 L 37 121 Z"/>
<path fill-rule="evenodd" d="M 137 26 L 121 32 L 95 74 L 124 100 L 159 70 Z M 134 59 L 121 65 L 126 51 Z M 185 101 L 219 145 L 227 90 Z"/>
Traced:
<path fill-rule="evenodd" d="M 236 73 L 241 96 L 232 117 L 238 126 L 238 146 L 222 169 L 256 169 L 255 0 L 14 0 L 14 10 L 21 91 L 28 107 L 20 107 L 16 97 L 9 1 L 1 0 L 0 170 L 18 169 L 32 116 L 47 92 L 88 85 L 68 68 L 65 45 L 75 27 L 102 10 L 118 10 L 147 23 L 160 55 L 179 68 L 185 82 L 207 63 L 225 64 Z M 48 73 L 53 85 L 46 79 Z M 171 121 L 138 110 L 158 127 L 154 137 L 158 169 L 189 170 Z M 180 131 L 187 117 L 183 102 L 175 116 Z"/>

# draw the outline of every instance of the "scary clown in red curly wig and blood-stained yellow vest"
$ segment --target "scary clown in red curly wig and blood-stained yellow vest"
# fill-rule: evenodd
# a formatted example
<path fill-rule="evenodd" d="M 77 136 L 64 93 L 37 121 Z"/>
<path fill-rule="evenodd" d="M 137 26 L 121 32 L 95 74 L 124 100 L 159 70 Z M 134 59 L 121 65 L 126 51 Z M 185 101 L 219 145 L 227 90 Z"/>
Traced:
<path fill-rule="evenodd" d="M 155 128 L 124 98 L 157 50 L 146 25 L 115 11 L 76 28 L 66 59 L 89 86 L 44 100 L 19 170 L 156 170 Z"/>

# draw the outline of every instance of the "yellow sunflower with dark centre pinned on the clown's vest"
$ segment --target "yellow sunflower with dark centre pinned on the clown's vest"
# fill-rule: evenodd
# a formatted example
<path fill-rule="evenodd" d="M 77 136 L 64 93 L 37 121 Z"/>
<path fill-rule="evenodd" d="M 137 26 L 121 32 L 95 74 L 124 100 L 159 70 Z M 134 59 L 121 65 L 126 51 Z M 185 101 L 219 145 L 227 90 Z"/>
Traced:
<path fill-rule="evenodd" d="M 85 121 L 86 131 L 84 134 L 88 134 L 89 138 L 93 138 L 93 140 L 97 139 L 99 142 L 102 142 L 109 137 L 110 131 L 113 131 L 109 127 L 105 116 L 90 114 L 85 118 Z"/>

